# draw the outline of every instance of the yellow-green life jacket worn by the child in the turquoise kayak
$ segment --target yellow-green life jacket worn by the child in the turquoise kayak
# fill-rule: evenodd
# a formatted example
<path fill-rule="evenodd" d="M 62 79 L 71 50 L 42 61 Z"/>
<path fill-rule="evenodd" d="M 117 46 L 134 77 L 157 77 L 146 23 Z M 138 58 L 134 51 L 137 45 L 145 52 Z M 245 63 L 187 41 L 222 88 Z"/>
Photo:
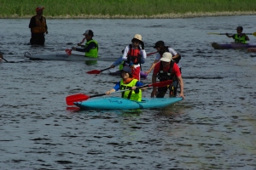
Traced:
<path fill-rule="evenodd" d="M 136 85 L 137 81 L 138 81 L 137 79 L 133 79 L 128 84 L 125 84 L 123 82 L 123 80 L 121 80 L 120 90 L 125 90 L 125 89 L 129 89 L 129 88 L 134 87 Z M 131 100 L 134 100 L 134 101 L 142 101 L 143 92 L 142 92 L 141 89 L 139 89 L 139 93 L 136 94 L 134 90 L 128 90 L 128 91 L 125 91 L 125 92 L 122 93 L 122 98 L 131 99 Z"/>

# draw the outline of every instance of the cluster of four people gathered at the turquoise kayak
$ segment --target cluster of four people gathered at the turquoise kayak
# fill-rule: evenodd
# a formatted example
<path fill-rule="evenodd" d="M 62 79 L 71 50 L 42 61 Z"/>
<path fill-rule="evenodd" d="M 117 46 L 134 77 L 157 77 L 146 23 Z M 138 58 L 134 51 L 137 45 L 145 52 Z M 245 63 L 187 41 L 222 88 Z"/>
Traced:
<path fill-rule="evenodd" d="M 179 96 L 184 99 L 181 68 L 177 65 L 179 59 L 181 59 L 180 54 L 173 48 L 166 46 L 163 41 L 155 42 L 154 48 L 157 50 L 156 59 L 146 73 L 148 74 L 154 69 L 152 83 L 155 83 L 158 78 L 160 82 L 172 80 L 172 84 L 166 87 L 153 87 L 151 97 L 163 98 L 168 89 L 169 97 L 176 97 L 177 87 L 179 87 Z M 112 89 L 108 90 L 106 94 L 111 94 L 117 90 L 131 89 L 122 92 L 122 97 L 141 101 L 143 89 L 139 87 L 143 86 L 143 83 L 140 82 L 140 71 L 141 65 L 144 64 L 146 59 L 147 54 L 144 49 L 143 37 L 140 34 L 135 34 L 131 39 L 131 44 L 123 50 L 123 56 L 111 65 L 111 67 L 114 67 L 122 61 L 120 68 L 122 79 Z"/>

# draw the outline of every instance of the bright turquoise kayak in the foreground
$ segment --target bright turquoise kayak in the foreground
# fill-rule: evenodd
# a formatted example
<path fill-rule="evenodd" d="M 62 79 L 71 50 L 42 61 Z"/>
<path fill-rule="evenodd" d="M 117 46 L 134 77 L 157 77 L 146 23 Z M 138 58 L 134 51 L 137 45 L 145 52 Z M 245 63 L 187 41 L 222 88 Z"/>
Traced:
<path fill-rule="evenodd" d="M 106 97 L 74 102 L 74 105 L 77 105 L 84 110 L 130 110 L 161 108 L 166 107 L 167 105 L 172 105 L 180 100 L 182 100 L 182 98 L 149 98 L 137 102 L 119 97 Z"/>

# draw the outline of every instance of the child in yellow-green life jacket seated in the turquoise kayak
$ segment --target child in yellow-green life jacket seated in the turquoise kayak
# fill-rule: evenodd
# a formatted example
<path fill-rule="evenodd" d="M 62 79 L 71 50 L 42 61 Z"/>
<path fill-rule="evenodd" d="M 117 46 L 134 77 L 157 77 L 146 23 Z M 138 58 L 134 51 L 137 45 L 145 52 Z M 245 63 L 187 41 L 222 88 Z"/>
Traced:
<path fill-rule="evenodd" d="M 122 98 L 125 99 L 131 99 L 135 101 L 142 101 L 143 93 L 141 89 L 138 89 L 137 87 L 143 86 L 143 82 L 139 82 L 137 79 L 132 77 L 131 75 L 131 67 L 128 65 L 125 65 L 121 71 L 121 77 L 122 80 L 120 82 L 117 82 L 116 85 L 108 90 L 106 94 L 111 94 L 115 91 L 125 90 L 125 89 L 131 89 L 127 90 L 125 92 L 122 92 Z"/>

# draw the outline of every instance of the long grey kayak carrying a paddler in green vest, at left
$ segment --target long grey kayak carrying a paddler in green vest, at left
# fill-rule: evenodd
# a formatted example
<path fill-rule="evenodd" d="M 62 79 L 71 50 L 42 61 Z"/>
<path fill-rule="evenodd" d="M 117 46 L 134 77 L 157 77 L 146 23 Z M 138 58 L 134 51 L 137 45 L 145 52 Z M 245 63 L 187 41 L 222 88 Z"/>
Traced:
<path fill-rule="evenodd" d="M 24 57 L 32 60 L 66 60 L 66 61 L 115 61 L 117 58 L 89 58 L 81 54 L 29 54 L 25 52 Z"/>

